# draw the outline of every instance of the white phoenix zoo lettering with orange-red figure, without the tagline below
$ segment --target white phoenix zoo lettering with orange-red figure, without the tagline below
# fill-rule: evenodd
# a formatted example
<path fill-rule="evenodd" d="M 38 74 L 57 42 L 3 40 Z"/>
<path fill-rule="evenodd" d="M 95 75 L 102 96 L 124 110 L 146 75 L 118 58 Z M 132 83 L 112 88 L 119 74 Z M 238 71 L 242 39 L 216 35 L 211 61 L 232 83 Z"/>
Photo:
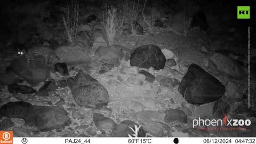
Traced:
<path fill-rule="evenodd" d="M 193 120 L 193 128 L 195 126 L 249 126 L 251 125 L 250 119 L 228 119 L 228 116 L 225 115 L 223 119 L 198 119 Z"/>

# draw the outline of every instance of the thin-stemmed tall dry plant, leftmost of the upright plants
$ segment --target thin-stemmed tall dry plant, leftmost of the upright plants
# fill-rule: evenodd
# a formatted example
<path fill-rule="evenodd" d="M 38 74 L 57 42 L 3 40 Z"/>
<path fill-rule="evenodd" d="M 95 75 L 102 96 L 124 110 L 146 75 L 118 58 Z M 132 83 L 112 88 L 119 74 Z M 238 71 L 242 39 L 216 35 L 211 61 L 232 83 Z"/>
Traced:
<path fill-rule="evenodd" d="M 63 11 L 65 12 L 65 17 L 63 16 L 62 20 L 68 41 L 73 43 L 77 35 L 79 5 L 71 0 L 70 4 L 67 4 L 67 7 L 63 8 Z"/>

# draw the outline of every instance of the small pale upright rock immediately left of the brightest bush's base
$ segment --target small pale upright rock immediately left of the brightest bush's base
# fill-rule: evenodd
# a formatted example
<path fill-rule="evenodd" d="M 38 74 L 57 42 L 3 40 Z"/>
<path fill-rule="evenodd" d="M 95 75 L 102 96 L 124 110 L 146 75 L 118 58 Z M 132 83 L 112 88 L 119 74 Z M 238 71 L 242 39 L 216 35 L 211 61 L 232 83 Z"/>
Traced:
<path fill-rule="evenodd" d="M 98 49 L 99 46 L 108 46 L 108 42 L 101 29 L 92 30 L 90 33 L 90 38 L 93 42 L 93 49 Z"/>

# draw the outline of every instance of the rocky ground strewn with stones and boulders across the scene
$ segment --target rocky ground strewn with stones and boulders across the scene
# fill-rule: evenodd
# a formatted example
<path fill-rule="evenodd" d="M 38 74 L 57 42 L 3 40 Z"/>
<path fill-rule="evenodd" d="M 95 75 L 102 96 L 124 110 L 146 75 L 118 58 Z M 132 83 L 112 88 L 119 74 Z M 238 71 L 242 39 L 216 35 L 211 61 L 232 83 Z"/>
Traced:
<path fill-rule="evenodd" d="M 81 11 L 81 19 L 86 18 L 88 14 Z M 118 35 L 115 45 L 108 46 L 97 21 L 81 23 L 86 30 L 74 44 L 63 40 L 61 22 L 55 24 L 47 23 L 52 31 L 44 36 L 58 41 L 50 45 L 60 60 L 52 58 L 46 67 L 39 58 L 37 68 L 26 67 L 13 45 L 1 49 L 1 130 L 12 130 L 16 137 L 128 137 L 133 134 L 129 126 L 142 125 L 139 137 L 255 136 L 255 79 L 252 75 L 248 95 L 247 49 L 237 39 L 238 30 L 205 33 L 194 28 L 185 36 L 155 27 L 152 32 L 145 29 L 143 35 Z M 152 67 L 143 68 L 147 67 L 139 62 L 143 54 L 134 51 L 145 46 L 142 53 L 154 55 L 148 51 L 151 45 L 157 47 L 157 57 L 146 58 Z M 161 58 L 166 62 L 161 63 Z M 58 69 L 54 66 L 58 62 L 66 66 Z M 81 90 L 81 85 L 97 88 Z M 18 92 L 17 87 L 22 89 Z M 84 95 L 89 99 L 84 100 Z M 210 130 L 212 126 L 202 123 L 193 127 L 194 119 L 224 116 L 250 119 L 251 125 L 227 131 Z"/>

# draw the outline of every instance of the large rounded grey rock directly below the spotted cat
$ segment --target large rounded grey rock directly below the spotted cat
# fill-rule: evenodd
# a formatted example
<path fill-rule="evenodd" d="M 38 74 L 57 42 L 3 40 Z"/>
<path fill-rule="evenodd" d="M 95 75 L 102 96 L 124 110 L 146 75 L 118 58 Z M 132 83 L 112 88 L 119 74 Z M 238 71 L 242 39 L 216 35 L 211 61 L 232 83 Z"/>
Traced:
<path fill-rule="evenodd" d="M 35 64 L 35 68 L 27 67 L 26 58 L 21 57 L 18 59 L 13 59 L 10 67 L 17 75 L 25 79 L 26 82 L 36 85 L 45 81 L 49 71 L 40 63 L 35 62 Z"/>

